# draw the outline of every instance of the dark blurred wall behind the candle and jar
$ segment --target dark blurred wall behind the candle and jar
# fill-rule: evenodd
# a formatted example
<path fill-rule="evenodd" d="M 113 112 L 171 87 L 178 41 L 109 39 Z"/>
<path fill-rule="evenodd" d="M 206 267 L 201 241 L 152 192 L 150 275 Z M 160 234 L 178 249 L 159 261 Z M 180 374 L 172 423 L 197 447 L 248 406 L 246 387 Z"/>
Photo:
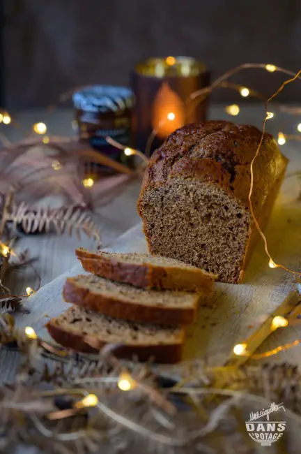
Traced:
<path fill-rule="evenodd" d="M 149 56 L 190 55 L 217 77 L 242 62 L 301 67 L 300 0 L 3 0 L 6 106 L 29 108 L 90 83 L 128 85 Z M 233 81 L 271 94 L 284 76 Z M 301 100 L 301 82 L 285 101 Z M 236 101 L 219 90 L 217 101 Z"/>

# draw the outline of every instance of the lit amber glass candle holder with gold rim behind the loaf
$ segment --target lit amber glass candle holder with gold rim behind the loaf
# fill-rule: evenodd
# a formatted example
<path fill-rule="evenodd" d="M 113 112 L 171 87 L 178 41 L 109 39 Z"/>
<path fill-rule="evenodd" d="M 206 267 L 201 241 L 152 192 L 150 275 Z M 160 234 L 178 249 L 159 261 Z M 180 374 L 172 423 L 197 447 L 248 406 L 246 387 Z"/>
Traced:
<path fill-rule="evenodd" d="M 144 152 L 152 135 L 155 149 L 175 129 L 205 121 L 207 98 L 196 103 L 190 95 L 209 84 L 210 73 L 192 57 L 151 58 L 137 64 L 131 74 L 136 147 Z"/>

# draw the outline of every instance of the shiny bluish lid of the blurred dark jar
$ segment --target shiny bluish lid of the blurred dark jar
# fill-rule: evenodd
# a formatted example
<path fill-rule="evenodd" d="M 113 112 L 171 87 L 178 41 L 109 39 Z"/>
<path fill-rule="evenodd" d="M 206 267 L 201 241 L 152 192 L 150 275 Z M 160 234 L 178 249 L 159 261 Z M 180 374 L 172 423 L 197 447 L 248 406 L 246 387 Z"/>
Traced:
<path fill-rule="evenodd" d="M 131 89 L 114 85 L 93 85 L 72 96 L 75 108 L 88 112 L 116 112 L 131 108 L 133 98 Z"/>

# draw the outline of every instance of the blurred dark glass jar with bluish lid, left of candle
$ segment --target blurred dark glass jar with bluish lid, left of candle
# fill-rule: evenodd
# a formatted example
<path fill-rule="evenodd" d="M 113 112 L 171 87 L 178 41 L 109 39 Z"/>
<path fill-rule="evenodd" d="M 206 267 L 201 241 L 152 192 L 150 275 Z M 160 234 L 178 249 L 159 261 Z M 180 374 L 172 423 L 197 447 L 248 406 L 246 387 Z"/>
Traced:
<path fill-rule="evenodd" d="M 132 166 L 132 156 L 126 156 L 122 149 L 110 145 L 106 137 L 125 147 L 132 145 L 133 100 L 132 90 L 112 85 L 93 85 L 73 94 L 80 142 L 88 143 L 115 161 Z M 101 170 L 114 173 L 114 170 L 104 166 Z"/>

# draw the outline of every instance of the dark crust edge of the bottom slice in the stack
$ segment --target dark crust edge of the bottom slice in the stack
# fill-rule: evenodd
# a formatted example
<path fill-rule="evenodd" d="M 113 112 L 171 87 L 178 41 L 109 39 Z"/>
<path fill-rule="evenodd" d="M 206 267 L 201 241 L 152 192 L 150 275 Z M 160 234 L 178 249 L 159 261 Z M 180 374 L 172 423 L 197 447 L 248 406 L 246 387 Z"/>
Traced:
<path fill-rule="evenodd" d="M 79 351 L 81 353 L 98 353 L 106 342 L 98 342 L 98 348 L 87 344 L 84 336 L 68 332 L 56 325 L 54 321 L 49 321 L 46 328 L 49 335 L 67 349 Z M 158 344 L 153 346 L 139 345 L 121 345 L 114 349 L 114 355 L 117 358 L 132 358 L 136 355 L 140 361 L 147 361 L 149 358 L 155 358 L 157 363 L 173 364 L 182 359 L 183 342 L 179 344 Z"/>

